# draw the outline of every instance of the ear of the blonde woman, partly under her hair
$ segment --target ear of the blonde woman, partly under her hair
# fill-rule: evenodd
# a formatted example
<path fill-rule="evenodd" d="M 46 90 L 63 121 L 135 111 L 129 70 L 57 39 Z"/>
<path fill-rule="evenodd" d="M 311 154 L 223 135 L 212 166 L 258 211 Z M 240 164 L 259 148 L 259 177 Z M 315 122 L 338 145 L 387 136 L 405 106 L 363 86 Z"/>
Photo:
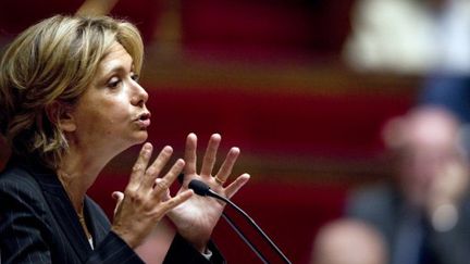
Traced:
<path fill-rule="evenodd" d="M 75 118 L 70 106 L 54 101 L 46 106 L 46 114 L 49 121 L 58 124 L 62 131 L 71 133 L 76 129 Z"/>

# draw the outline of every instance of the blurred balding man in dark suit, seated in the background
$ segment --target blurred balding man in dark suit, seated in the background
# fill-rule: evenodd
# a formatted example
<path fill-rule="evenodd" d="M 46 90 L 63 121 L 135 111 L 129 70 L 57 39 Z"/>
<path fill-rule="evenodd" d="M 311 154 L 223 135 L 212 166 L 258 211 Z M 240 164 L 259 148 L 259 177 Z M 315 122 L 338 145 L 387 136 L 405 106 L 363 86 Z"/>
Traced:
<path fill-rule="evenodd" d="M 384 235 L 389 263 L 468 263 L 469 164 L 458 120 L 441 108 L 417 108 L 391 121 L 384 139 L 396 181 L 355 192 L 347 214 Z"/>

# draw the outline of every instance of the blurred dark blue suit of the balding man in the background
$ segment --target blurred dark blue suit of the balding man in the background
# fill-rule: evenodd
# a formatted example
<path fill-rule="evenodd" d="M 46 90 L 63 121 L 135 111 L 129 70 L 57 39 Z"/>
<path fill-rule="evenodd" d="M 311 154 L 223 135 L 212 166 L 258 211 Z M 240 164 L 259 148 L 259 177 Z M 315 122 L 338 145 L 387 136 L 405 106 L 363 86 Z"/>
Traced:
<path fill-rule="evenodd" d="M 470 200 L 459 208 L 449 230 L 435 230 L 422 212 L 407 206 L 393 185 L 358 190 L 348 201 L 347 215 L 363 219 L 384 236 L 392 264 L 470 263 Z"/>

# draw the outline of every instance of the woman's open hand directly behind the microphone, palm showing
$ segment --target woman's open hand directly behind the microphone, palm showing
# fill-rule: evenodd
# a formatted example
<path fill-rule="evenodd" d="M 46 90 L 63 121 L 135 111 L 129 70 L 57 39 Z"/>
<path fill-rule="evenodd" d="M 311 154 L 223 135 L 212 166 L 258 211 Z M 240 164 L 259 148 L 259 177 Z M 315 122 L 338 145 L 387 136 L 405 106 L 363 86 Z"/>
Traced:
<path fill-rule="evenodd" d="M 242 174 L 233 183 L 224 187 L 224 183 L 232 174 L 232 168 L 238 158 L 238 148 L 232 148 L 220 169 L 215 174 L 212 173 L 220 142 L 221 136 L 219 134 L 213 134 L 210 137 L 202 160 L 202 166 L 198 173 L 196 168 L 197 137 L 195 134 L 189 134 L 187 136 L 185 150 L 186 165 L 184 167 L 185 177 L 178 193 L 185 193 L 187 191 L 187 186 L 190 180 L 199 179 L 219 194 L 231 198 L 249 180 L 248 174 Z M 169 216 L 175 224 L 180 235 L 191 242 L 200 252 L 203 252 L 212 230 L 219 222 L 224 205 L 223 202 L 212 198 L 193 196 L 185 203 L 171 210 Z"/>

